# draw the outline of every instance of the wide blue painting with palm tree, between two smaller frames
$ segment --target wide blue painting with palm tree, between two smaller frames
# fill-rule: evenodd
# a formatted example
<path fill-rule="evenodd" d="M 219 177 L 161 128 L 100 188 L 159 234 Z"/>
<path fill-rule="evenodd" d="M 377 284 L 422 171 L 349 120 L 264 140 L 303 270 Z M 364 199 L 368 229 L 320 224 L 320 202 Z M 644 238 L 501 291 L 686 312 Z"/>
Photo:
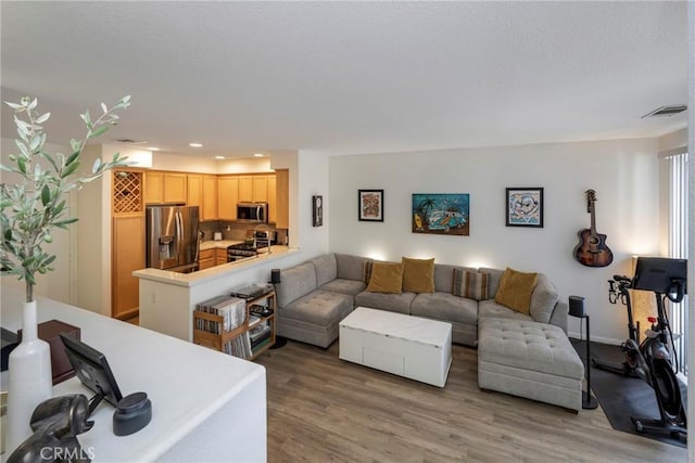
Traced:
<path fill-rule="evenodd" d="M 413 194 L 413 233 L 470 233 L 470 201 L 466 194 Z"/>

